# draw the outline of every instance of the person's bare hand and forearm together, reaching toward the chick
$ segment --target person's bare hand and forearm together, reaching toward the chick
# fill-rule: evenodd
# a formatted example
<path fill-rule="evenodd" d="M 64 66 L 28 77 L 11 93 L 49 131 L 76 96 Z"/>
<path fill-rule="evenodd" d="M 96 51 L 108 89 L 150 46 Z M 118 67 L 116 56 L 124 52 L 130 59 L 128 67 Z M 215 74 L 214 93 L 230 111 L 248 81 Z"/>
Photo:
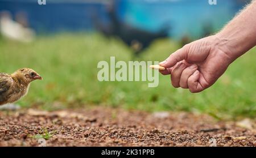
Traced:
<path fill-rule="evenodd" d="M 205 37 L 172 53 L 159 65 L 171 75 L 175 88 L 192 93 L 212 86 L 228 66 L 256 45 L 256 1 L 243 9 L 216 35 Z"/>

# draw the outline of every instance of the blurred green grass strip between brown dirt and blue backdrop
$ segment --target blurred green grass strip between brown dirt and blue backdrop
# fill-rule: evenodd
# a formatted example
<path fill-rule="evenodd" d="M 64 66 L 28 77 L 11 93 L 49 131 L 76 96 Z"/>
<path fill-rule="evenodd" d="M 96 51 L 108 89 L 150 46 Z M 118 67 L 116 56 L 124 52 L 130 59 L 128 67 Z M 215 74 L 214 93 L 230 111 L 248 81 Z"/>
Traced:
<path fill-rule="evenodd" d="M 141 60 L 162 61 L 179 45 L 171 40 L 155 41 Z M 234 62 L 212 87 L 201 93 L 175 89 L 170 76 L 159 77 L 159 86 L 147 82 L 98 82 L 97 63 L 130 61 L 130 50 L 119 40 L 85 33 L 40 36 L 31 44 L 0 39 L 0 71 L 30 67 L 43 76 L 32 83 L 18 104 L 48 110 L 91 105 L 114 106 L 150 112 L 188 110 L 215 117 L 255 117 L 255 49 Z"/>

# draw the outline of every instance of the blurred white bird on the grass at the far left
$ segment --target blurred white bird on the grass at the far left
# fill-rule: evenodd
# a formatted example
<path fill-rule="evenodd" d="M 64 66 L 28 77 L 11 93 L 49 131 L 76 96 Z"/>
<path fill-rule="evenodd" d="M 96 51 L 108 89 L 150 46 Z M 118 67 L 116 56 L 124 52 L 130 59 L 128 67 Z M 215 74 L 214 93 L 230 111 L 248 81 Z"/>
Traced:
<path fill-rule="evenodd" d="M 35 32 L 31 28 L 15 22 L 8 11 L 0 13 L 0 32 L 8 39 L 20 42 L 31 42 L 35 37 Z"/>

